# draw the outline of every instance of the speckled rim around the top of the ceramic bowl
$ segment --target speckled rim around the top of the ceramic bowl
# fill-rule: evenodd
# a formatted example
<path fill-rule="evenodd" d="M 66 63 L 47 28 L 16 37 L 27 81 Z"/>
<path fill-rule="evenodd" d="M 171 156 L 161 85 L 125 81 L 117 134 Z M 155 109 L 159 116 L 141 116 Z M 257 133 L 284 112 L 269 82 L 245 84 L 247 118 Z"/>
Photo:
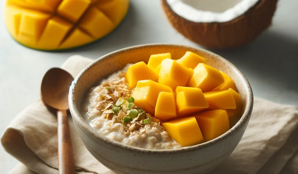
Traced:
<path fill-rule="evenodd" d="M 178 148 L 178 149 L 145 149 L 145 148 L 139 148 L 139 147 L 134 147 L 131 145 L 125 145 L 123 143 L 117 142 L 115 140 L 111 140 L 108 139 L 107 137 L 105 137 L 104 135 L 101 135 L 99 132 L 97 132 L 94 128 L 92 128 L 86 121 L 85 119 L 81 116 L 77 106 L 75 105 L 75 88 L 77 86 L 78 81 L 80 80 L 81 76 L 88 71 L 88 69 L 90 69 L 91 67 L 95 66 L 95 64 L 100 63 L 101 61 L 108 59 L 110 56 L 113 56 L 114 54 L 119 54 L 122 52 L 126 52 L 127 50 L 137 50 L 139 48 L 145 48 L 145 47 L 153 47 L 153 46 L 173 46 L 173 47 L 184 47 L 184 48 L 190 48 L 190 49 L 195 49 L 195 50 L 199 50 L 203 53 L 209 54 L 210 56 L 216 57 L 218 59 L 220 59 L 221 61 L 223 61 L 226 64 L 229 64 L 230 67 L 232 69 L 235 70 L 236 73 L 238 73 L 237 76 L 241 77 L 241 83 L 243 83 L 245 86 L 245 90 L 247 91 L 247 99 L 246 99 L 246 109 L 243 113 L 243 115 L 241 116 L 240 120 L 232 127 L 230 128 L 227 132 L 225 132 L 224 134 L 222 134 L 219 137 L 216 137 L 213 140 L 201 143 L 201 144 L 197 144 L 197 145 L 193 145 L 193 146 L 187 146 L 187 147 L 182 147 L 182 148 Z M 230 135 L 232 135 L 233 132 L 237 131 L 238 129 L 240 129 L 241 127 L 243 127 L 248 121 L 249 118 L 251 116 L 252 113 L 252 108 L 253 108 L 253 93 L 252 93 L 252 88 L 248 82 L 248 80 L 246 79 L 246 77 L 243 75 L 243 73 L 234 65 L 232 64 L 230 61 L 226 60 L 225 58 L 211 52 L 208 50 L 205 50 L 203 48 L 196 48 L 196 47 L 192 47 L 192 46 L 186 46 L 186 45 L 178 45 L 178 44 L 168 44 L 168 43 L 151 43 L 151 44 L 142 44 L 142 45 L 135 45 L 135 46 L 131 46 L 131 47 L 126 47 L 126 48 L 122 48 L 119 50 L 115 50 L 111 53 L 105 54 L 103 56 L 101 56 L 100 58 L 97 58 L 95 61 L 93 61 L 92 63 L 90 63 L 88 66 L 86 66 L 76 77 L 75 80 L 72 82 L 72 85 L 69 88 L 69 110 L 71 112 L 73 121 L 75 122 L 74 124 L 77 124 L 77 126 L 83 130 L 83 132 L 86 134 L 86 132 L 88 132 L 88 134 L 90 136 L 95 137 L 96 139 L 100 140 L 101 142 L 107 144 L 107 145 L 111 145 L 114 146 L 116 148 L 121 148 L 124 150 L 128 150 L 128 151 L 132 151 L 132 152 L 138 152 L 138 153 L 145 153 L 145 154 L 164 154 L 164 153 L 183 153 L 183 152 L 189 152 L 189 151 L 194 151 L 194 150 L 198 150 L 198 149 L 203 149 L 206 148 L 208 146 L 214 145 L 218 142 L 220 142 L 223 139 L 226 139 L 227 137 L 229 137 Z"/>

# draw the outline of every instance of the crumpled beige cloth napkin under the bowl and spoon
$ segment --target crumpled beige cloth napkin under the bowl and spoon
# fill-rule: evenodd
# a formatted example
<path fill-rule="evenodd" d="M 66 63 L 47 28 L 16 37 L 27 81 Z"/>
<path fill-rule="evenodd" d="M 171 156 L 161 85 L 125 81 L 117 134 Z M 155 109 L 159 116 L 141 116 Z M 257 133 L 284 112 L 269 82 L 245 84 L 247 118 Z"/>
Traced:
<path fill-rule="evenodd" d="M 70 57 L 62 68 L 74 77 L 92 62 Z M 297 174 L 298 107 L 255 98 L 254 109 L 235 151 L 211 173 Z M 77 173 L 114 174 L 100 164 L 83 145 L 69 117 Z M 22 111 L 1 137 L 5 150 L 19 163 L 10 174 L 56 174 L 57 119 L 40 100 Z"/>

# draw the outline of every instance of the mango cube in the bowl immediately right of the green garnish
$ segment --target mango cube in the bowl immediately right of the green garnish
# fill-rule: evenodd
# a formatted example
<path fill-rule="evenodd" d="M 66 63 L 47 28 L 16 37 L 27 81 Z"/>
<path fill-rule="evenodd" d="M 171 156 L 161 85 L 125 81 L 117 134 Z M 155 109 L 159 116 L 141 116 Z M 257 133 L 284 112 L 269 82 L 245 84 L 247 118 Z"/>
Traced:
<path fill-rule="evenodd" d="M 131 97 L 134 98 L 136 106 L 143 107 L 146 112 L 154 115 L 157 98 L 162 91 L 173 93 L 173 90 L 168 86 L 152 80 L 140 80 Z"/>

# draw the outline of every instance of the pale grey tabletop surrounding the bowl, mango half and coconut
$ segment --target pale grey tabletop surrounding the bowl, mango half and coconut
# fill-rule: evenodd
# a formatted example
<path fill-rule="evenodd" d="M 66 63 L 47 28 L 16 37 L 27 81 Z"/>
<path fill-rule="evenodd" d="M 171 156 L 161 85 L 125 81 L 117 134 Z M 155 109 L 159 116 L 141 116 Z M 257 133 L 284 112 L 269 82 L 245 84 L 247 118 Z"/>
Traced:
<path fill-rule="evenodd" d="M 131 0 L 122 25 L 108 37 L 76 50 L 42 52 L 19 45 L 4 26 L 4 0 L 0 0 L 0 132 L 26 106 L 39 97 L 44 73 L 69 56 L 96 59 L 111 51 L 145 43 L 197 46 L 174 30 L 159 0 Z M 298 1 L 280 0 L 272 26 L 245 47 L 211 50 L 234 63 L 248 78 L 254 96 L 298 105 Z M 0 171 L 8 173 L 17 163 L 0 147 Z"/>

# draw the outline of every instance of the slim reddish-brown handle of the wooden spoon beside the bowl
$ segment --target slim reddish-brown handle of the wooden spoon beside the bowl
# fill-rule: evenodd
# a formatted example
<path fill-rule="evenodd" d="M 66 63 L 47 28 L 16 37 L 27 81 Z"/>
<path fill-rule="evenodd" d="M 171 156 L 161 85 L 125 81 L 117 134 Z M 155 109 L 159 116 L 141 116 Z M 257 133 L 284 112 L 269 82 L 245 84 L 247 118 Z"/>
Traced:
<path fill-rule="evenodd" d="M 58 171 L 59 174 L 74 174 L 74 156 L 72 141 L 70 138 L 69 125 L 66 110 L 57 111 L 58 119 Z"/>

